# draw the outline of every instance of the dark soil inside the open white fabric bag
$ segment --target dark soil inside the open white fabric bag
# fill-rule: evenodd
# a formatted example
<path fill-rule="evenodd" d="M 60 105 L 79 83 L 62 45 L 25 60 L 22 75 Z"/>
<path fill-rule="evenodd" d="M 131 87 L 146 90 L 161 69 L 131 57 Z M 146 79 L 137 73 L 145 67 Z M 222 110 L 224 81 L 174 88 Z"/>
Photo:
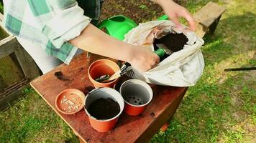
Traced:
<path fill-rule="evenodd" d="M 183 34 L 167 34 L 161 39 L 155 39 L 154 44 L 164 44 L 173 52 L 180 51 L 188 42 L 188 38 Z"/>

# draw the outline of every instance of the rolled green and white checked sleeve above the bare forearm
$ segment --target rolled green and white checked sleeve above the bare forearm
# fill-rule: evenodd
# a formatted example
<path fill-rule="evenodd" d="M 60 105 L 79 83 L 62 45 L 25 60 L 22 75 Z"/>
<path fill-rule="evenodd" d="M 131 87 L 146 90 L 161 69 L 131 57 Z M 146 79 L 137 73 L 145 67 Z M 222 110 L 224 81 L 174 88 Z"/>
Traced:
<path fill-rule="evenodd" d="M 35 19 L 41 25 L 42 34 L 60 48 L 76 38 L 88 26 L 91 19 L 83 15 L 76 0 L 27 0 Z"/>

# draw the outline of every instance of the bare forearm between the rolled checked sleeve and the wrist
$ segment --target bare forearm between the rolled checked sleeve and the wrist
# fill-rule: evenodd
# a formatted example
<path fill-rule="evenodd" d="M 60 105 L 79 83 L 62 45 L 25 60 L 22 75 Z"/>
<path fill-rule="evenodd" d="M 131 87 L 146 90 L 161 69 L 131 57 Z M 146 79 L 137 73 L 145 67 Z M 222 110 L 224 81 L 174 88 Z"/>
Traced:
<path fill-rule="evenodd" d="M 114 39 L 103 31 L 89 24 L 80 36 L 69 41 L 70 44 L 93 54 L 107 56 L 112 59 L 130 61 L 134 46 Z"/>

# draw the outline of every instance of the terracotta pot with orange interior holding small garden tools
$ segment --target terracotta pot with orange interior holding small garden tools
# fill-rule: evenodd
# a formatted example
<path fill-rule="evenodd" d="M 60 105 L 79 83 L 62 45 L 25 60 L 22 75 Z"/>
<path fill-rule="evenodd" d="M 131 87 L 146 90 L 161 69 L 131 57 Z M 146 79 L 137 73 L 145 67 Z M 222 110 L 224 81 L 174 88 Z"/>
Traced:
<path fill-rule="evenodd" d="M 114 62 L 109 59 L 99 59 L 97 61 L 94 61 L 88 69 L 88 77 L 90 81 L 93 83 L 94 87 L 99 88 L 99 87 L 114 87 L 114 84 L 116 84 L 118 79 L 114 79 L 111 82 L 106 82 L 106 83 L 101 83 L 101 82 L 96 82 L 96 79 L 99 77 L 108 74 L 111 76 L 114 74 L 116 71 L 119 71 L 119 66 Z"/>

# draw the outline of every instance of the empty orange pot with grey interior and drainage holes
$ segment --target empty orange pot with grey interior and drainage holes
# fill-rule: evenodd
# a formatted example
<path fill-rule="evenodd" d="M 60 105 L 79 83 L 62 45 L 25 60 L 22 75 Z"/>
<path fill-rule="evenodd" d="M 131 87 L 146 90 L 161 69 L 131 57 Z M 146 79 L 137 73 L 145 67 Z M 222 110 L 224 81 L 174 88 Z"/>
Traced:
<path fill-rule="evenodd" d="M 153 97 L 151 87 L 138 79 L 129 79 L 120 87 L 120 93 L 124 98 L 124 112 L 137 116 L 141 114 Z"/>

